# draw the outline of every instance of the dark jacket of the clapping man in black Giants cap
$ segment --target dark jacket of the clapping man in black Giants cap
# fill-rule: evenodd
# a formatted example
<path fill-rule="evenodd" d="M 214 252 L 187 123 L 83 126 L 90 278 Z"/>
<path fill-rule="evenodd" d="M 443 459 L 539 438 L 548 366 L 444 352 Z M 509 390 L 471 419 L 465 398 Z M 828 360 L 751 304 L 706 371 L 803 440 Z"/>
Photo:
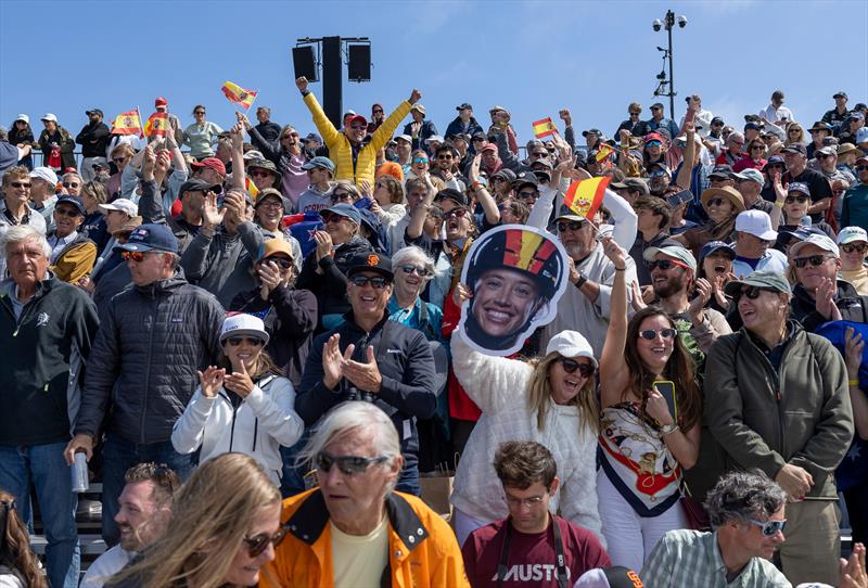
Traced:
<path fill-rule="evenodd" d="M 400 437 L 401 452 L 416 458 L 419 451 L 419 433 L 416 420 L 427 419 L 437 408 L 434 389 L 434 357 L 425 335 L 398 322 L 390 321 L 388 314 L 370 333 L 362 331 L 348 312 L 346 321 L 314 340 L 307 356 L 305 373 L 295 397 L 295 410 L 311 425 L 332 407 L 346 400 L 366 400 L 375 404 L 392 418 Z M 359 391 L 346 379 L 330 391 L 322 383 L 322 346 L 333 334 L 341 335 L 341 353 L 352 343 L 356 346 L 353 359 L 367 361 L 367 347 L 373 347 L 376 365 L 383 376 L 376 394 Z M 410 461 L 416 461 L 411 459 Z"/>

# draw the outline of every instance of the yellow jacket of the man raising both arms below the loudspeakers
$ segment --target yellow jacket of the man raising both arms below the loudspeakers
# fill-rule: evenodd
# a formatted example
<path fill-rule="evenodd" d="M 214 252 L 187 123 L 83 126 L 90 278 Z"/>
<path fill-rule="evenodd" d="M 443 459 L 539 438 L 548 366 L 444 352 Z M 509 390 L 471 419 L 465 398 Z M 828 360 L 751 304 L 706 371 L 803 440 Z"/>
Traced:
<path fill-rule="evenodd" d="M 312 92 L 305 97 L 305 104 L 310 110 L 314 124 L 329 148 L 329 158 L 334 162 L 334 179 L 349 180 L 359 188 L 361 188 L 361 180 L 368 180 L 373 190 L 376 152 L 392 139 L 392 133 L 398 128 L 398 124 L 409 114 L 411 104 L 406 100 L 398 104 L 395 112 L 390 114 L 388 118 L 373 131 L 371 142 L 359 150 L 355 167 L 353 166 L 353 149 L 349 145 L 349 139 L 334 128 Z"/>

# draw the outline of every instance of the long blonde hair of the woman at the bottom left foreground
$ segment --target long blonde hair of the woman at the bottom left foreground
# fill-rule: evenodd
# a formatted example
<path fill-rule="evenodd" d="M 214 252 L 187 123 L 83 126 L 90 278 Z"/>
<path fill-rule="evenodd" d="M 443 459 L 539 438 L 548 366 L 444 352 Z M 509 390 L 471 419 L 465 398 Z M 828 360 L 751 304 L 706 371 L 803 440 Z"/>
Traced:
<path fill-rule="evenodd" d="M 224 586 L 251 522 L 279 503 L 280 491 L 252 457 L 210 459 L 178 490 L 166 535 L 110 585 L 137 578 L 143 588 Z"/>

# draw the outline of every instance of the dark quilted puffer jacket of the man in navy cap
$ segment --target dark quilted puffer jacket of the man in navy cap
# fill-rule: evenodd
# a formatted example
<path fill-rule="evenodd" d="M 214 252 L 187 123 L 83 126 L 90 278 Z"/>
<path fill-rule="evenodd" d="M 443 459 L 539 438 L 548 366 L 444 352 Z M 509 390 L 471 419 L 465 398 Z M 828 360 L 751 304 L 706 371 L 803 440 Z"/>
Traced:
<path fill-rule="evenodd" d="M 93 344 L 75 433 L 107 430 L 140 444 L 169 440 L 199 385 L 196 370 L 217 365 L 224 309 L 175 277 L 112 298 Z"/>

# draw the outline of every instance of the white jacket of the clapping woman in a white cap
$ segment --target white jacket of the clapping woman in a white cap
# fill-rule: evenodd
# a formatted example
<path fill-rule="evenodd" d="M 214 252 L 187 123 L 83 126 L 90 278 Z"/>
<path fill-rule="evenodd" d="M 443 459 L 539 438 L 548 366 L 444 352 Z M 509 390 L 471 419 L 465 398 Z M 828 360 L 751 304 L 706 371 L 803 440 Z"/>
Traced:
<path fill-rule="evenodd" d="M 202 447 L 200 463 L 229 451 L 246 453 L 280 485 L 280 446 L 295 445 L 304 431 L 294 405 L 295 391 L 285 378 L 261 379 L 238 409 L 225 388 L 207 398 L 200 386 L 175 423 L 171 445 L 179 453 Z"/>

